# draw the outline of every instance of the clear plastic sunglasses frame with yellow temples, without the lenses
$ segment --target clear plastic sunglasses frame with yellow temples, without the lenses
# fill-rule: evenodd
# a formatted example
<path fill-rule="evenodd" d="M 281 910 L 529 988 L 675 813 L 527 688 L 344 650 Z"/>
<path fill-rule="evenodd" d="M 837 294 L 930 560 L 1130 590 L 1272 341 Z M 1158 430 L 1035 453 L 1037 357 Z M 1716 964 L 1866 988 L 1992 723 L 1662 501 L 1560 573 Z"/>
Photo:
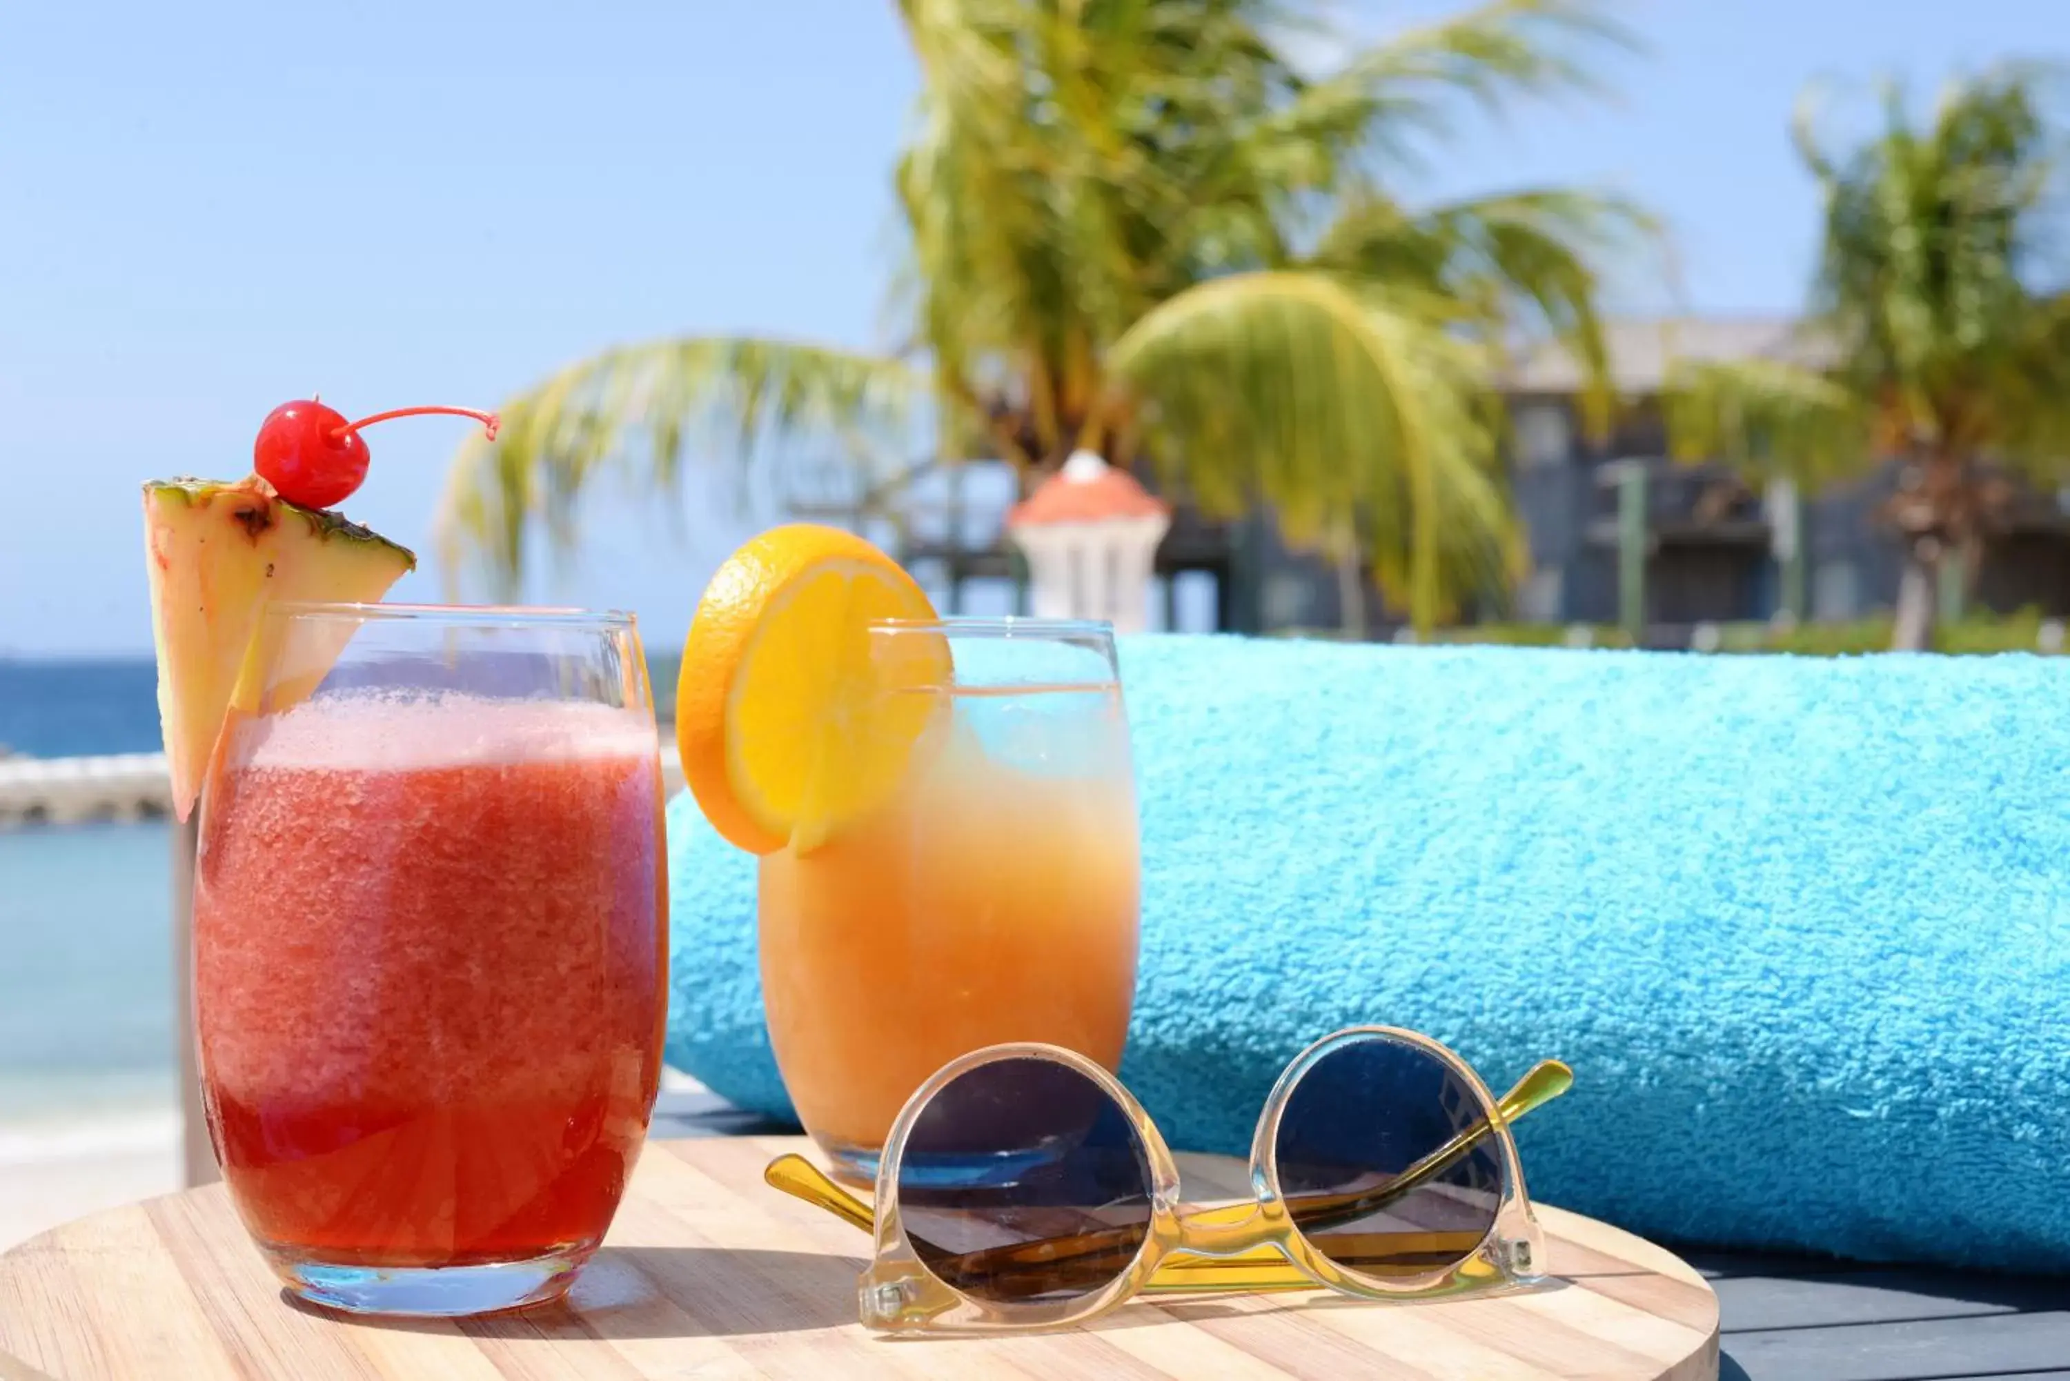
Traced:
<path fill-rule="evenodd" d="M 1319 1251 L 1294 1222 L 1279 1186 L 1279 1122 L 1288 1099 L 1314 1066 L 1358 1041 L 1399 1041 L 1445 1066 L 1480 1106 L 1480 1118 L 1435 1151 L 1393 1176 L 1385 1186 L 1358 1193 L 1302 1195 L 1300 1213 L 1310 1228 L 1325 1222 L 1358 1222 L 1397 1201 L 1418 1184 L 1443 1174 L 1484 1139 L 1495 1139 L 1501 1191 L 1492 1224 L 1478 1240 L 1445 1244 L 1457 1251 L 1447 1267 L 1377 1273 L 1348 1269 Z M 942 1282 L 921 1257 L 898 1213 L 898 1182 L 907 1139 L 929 1099 L 950 1081 L 996 1060 L 1052 1060 L 1095 1083 L 1128 1118 L 1149 1164 L 1151 1222 L 1132 1261 L 1114 1280 L 1083 1296 L 1045 1302 L 998 1302 L 965 1294 Z M 1000 1333 L 1068 1327 L 1097 1319 L 1136 1294 L 1199 1294 L 1228 1290 L 1314 1290 L 1329 1288 L 1366 1300 L 1422 1300 L 1445 1294 L 1492 1292 L 1532 1286 L 1544 1277 L 1544 1234 L 1524 1188 L 1524 1168 L 1509 1124 L 1559 1097 L 1573 1085 L 1573 1073 L 1559 1060 L 1534 1066 L 1497 1099 L 1488 1085 L 1457 1054 L 1414 1031 L 1397 1027 L 1350 1027 L 1304 1050 L 1265 1099 L 1250 1145 L 1252 1201 L 1215 1209 L 1180 1209 L 1178 1164 L 1143 1106 L 1114 1075 L 1081 1054 L 1058 1046 L 992 1046 L 942 1066 L 898 1114 L 878 1168 L 876 1211 L 849 1195 L 801 1155 L 782 1155 L 766 1170 L 766 1180 L 807 1203 L 836 1213 L 857 1228 L 876 1232 L 876 1259 L 859 1284 L 861 1321 L 882 1331 L 927 1329 L 938 1333 Z M 1437 1236 L 1437 1234 L 1432 1234 Z M 1056 1263 L 1126 1248 L 1122 1230 L 1043 1238 L 985 1248 L 985 1257 L 1010 1265 Z"/>

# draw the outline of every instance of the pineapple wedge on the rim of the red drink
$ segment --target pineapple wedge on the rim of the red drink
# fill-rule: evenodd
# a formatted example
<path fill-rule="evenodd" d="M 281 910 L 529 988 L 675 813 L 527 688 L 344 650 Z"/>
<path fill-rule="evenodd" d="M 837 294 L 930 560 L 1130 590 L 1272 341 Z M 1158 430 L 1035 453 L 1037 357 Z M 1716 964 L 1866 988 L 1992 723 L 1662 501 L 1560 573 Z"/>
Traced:
<path fill-rule="evenodd" d="M 416 557 L 337 513 L 288 503 L 259 476 L 151 480 L 143 528 L 157 716 L 174 812 L 186 820 L 265 603 L 377 603 Z"/>

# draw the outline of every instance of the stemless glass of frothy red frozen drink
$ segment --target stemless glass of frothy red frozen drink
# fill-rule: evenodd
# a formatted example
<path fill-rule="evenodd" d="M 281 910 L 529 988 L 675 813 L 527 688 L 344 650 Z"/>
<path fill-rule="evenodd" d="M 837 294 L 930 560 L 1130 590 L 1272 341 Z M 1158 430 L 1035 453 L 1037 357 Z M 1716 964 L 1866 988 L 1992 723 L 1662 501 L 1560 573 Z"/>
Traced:
<path fill-rule="evenodd" d="M 660 1079 L 662 783 L 629 615 L 271 605 L 203 793 L 195 1025 L 302 1298 L 561 1294 Z"/>

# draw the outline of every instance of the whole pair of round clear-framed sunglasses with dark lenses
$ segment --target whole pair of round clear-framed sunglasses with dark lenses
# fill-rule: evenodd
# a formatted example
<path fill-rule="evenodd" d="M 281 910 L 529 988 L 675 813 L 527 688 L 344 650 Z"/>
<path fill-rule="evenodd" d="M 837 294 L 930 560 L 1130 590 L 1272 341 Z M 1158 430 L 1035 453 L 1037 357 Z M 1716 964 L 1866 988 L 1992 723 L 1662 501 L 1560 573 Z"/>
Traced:
<path fill-rule="evenodd" d="M 907 1101 L 876 1211 L 801 1155 L 764 1178 L 876 1232 L 859 1298 L 884 1331 L 1062 1327 L 1134 1294 L 1430 1298 L 1542 1280 L 1509 1124 L 1571 1085 L 1544 1060 L 1497 1099 L 1426 1035 L 1350 1027 L 1265 1099 L 1254 1199 L 1182 1213 L 1172 1151 L 1114 1075 L 1058 1046 L 992 1046 Z"/>

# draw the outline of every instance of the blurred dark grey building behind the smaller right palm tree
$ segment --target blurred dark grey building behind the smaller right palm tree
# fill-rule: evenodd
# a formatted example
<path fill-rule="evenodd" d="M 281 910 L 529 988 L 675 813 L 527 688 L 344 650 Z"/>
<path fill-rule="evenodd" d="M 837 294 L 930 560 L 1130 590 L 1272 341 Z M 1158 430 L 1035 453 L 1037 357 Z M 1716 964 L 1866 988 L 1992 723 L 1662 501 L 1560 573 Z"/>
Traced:
<path fill-rule="evenodd" d="M 1617 321 L 1610 435 L 1581 424 L 1581 375 L 1559 348 L 1526 354 L 1505 381 L 1515 501 L 1530 532 L 1517 615 L 1546 623 L 1637 623 L 1687 646 L 1697 623 L 1857 619 L 1896 600 L 1900 551 L 1875 520 L 1896 466 L 1817 495 L 1755 493 L 1716 464 L 1668 458 L 1660 389 L 1670 360 L 1788 358 L 1811 346 L 1791 319 Z M 2006 482 L 2010 503 L 1979 553 L 1971 603 L 2070 613 L 2070 520 L 2060 495 Z M 1631 609 L 1633 592 L 1639 609 Z M 1948 592 L 1954 598 L 1954 590 Z"/>

